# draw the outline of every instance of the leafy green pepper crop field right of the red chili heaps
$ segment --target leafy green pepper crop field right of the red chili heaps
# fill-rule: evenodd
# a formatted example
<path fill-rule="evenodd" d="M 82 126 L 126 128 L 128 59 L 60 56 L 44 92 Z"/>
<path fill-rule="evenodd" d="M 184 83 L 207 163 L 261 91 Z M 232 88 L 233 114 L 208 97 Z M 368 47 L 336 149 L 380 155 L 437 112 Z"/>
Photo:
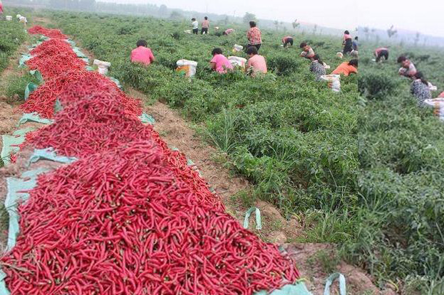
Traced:
<path fill-rule="evenodd" d="M 300 220 L 302 230 L 286 242 L 335 245 L 341 259 L 365 269 L 380 289 L 441 294 L 444 129 L 431 110 L 416 106 L 395 58 L 408 53 L 443 90 L 444 78 L 433 70 L 442 67 L 442 52 L 393 47 L 388 63 L 377 65 L 371 61 L 376 44 L 365 44 L 359 75 L 343 77 L 342 92 L 334 94 L 314 81 L 297 44 L 313 45 L 334 69 L 344 61 L 335 56 L 340 38 L 264 31 L 260 54 L 271 73 L 254 78 L 240 71 L 217 75 L 208 63 L 212 48 L 231 55 L 234 44 L 246 43 L 243 26 L 234 26 L 231 36 L 192 36 L 183 33 L 189 24 L 182 21 L 42 16 L 51 20 L 48 27 L 109 61 L 109 75 L 125 90 L 142 92 L 146 107 L 159 101 L 177 109 L 217 149 L 215 161 L 251 183 L 232 196 L 242 208 L 265 200 L 286 220 Z M 281 48 L 284 35 L 295 36 L 295 46 Z M 140 38 L 156 57 L 148 69 L 129 61 Z M 198 62 L 191 81 L 175 73 L 182 58 Z"/>

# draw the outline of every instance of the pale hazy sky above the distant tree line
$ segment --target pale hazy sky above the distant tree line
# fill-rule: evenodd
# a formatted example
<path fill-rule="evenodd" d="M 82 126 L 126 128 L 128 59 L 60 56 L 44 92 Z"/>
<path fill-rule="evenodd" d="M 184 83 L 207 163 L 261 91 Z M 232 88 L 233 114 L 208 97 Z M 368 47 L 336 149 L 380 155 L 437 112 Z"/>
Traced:
<path fill-rule="evenodd" d="M 397 28 L 444 36 L 444 0 L 100 0 L 120 3 L 165 4 L 179 8 L 216 14 L 243 16 L 245 12 L 258 18 L 279 21 L 317 23 L 321 26 L 353 30 L 356 26 Z"/>

